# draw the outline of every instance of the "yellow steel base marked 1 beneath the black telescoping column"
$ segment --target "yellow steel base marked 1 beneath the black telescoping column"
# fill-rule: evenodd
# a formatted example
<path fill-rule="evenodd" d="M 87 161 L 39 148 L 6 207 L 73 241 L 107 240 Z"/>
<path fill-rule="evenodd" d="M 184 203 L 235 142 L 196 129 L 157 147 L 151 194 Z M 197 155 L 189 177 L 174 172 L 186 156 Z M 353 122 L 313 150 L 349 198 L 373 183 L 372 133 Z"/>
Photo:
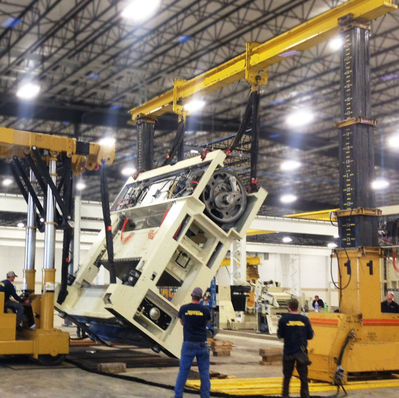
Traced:
<path fill-rule="evenodd" d="M 343 383 L 348 373 L 399 372 L 399 314 L 381 312 L 381 257 L 375 247 L 337 250 L 341 313 L 309 312 L 309 378 L 332 382 L 340 355 Z"/>

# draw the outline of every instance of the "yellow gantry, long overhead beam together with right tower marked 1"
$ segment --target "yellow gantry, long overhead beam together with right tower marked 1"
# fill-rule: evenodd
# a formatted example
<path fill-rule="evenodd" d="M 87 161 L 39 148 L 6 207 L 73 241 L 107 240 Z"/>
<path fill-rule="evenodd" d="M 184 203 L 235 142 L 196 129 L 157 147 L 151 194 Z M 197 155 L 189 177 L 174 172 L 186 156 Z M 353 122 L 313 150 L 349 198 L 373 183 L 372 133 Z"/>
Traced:
<path fill-rule="evenodd" d="M 265 43 L 247 43 L 246 52 L 188 81 L 175 80 L 170 90 L 131 109 L 138 138 L 153 134 L 156 117 L 181 106 L 195 94 L 205 95 L 246 78 L 267 82 L 267 67 L 289 52 L 303 51 L 342 35 L 342 121 L 340 140 L 341 248 L 338 285 L 340 313 L 314 313 L 315 338 L 309 344 L 309 377 L 345 383 L 348 372 L 399 370 L 399 315 L 380 308 L 380 250 L 370 180 L 374 171 L 373 126 L 369 90 L 370 21 L 397 9 L 391 0 L 349 0 Z M 140 154 L 138 153 L 138 158 Z M 344 372 L 345 370 L 345 372 Z"/>

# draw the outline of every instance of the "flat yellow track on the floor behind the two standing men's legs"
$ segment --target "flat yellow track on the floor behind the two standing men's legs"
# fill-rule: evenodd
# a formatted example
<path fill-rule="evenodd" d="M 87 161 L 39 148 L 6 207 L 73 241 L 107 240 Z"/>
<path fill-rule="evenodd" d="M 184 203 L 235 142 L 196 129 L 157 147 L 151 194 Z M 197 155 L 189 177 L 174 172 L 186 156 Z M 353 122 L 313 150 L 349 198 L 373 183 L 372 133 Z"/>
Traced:
<path fill-rule="evenodd" d="M 186 387 L 199 390 L 201 385 L 200 380 L 189 380 Z M 368 380 L 349 382 L 345 385 L 345 390 L 368 390 L 381 389 L 389 387 L 399 387 L 399 375 L 394 379 L 389 380 Z M 268 378 L 254 378 L 254 379 L 222 379 L 211 380 L 212 393 L 224 393 L 250 397 L 253 395 L 280 395 L 282 389 L 282 377 L 268 377 Z M 337 391 L 336 386 L 329 383 L 314 382 L 309 383 L 310 394 L 325 393 Z M 290 394 L 300 393 L 299 379 L 292 378 L 289 385 Z"/>

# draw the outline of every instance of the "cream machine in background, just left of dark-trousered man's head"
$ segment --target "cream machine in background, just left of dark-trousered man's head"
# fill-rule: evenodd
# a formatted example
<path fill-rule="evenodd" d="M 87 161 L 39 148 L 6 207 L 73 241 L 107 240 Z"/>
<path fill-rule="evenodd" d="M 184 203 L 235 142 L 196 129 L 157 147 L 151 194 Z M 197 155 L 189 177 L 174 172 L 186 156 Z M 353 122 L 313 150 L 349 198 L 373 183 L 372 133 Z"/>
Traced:
<path fill-rule="evenodd" d="M 277 282 L 258 280 L 255 286 L 257 330 L 261 333 L 276 334 L 278 319 L 288 312 L 287 300 L 292 297 L 284 292 Z"/>

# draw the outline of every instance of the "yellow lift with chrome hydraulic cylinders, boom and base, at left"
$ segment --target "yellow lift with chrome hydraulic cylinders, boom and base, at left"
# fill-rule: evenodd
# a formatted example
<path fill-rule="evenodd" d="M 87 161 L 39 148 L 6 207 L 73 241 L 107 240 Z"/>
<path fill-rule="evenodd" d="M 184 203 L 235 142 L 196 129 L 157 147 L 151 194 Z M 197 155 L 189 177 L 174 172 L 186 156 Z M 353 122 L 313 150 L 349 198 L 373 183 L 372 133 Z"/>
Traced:
<path fill-rule="evenodd" d="M 69 352 L 69 334 L 53 327 L 55 228 L 58 224 L 64 229 L 62 257 L 63 269 L 67 269 L 73 226 L 70 215 L 72 174 L 79 175 L 101 164 L 110 165 L 114 157 L 115 145 L 101 146 L 74 138 L 0 128 L 0 158 L 10 164 L 15 181 L 28 204 L 23 294 L 31 299 L 31 304 L 25 306 L 25 312 L 31 311 L 31 320 L 35 324 L 34 328 L 24 324 L 21 331 L 16 331 L 16 316 L 14 313 L 3 313 L 4 294 L 0 293 L 0 355 L 25 354 L 43 364 L 57 364 Z M 29 166 L 29 176 L 20 159 L 24 159 Z M 63 198 L 56 187 L 57 162 L 63 163 Z M 43 204 L 36 195 L 37 185 L 45 197 Z M 40 296 L 34 294 L 37 228 L 45 232 Z"/>

